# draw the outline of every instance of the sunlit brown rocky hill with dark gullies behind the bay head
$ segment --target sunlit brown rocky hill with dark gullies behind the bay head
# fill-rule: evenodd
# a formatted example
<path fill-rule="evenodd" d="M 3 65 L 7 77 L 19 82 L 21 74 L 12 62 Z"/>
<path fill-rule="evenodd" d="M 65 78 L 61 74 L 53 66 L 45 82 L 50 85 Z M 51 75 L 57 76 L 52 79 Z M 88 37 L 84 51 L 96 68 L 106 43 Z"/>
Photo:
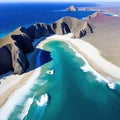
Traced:
<path fill-rule="evenodd" d="M 93 33 L 93 27 L 87 20 L 78 20 L 73 17 L 63 17 L 51 25 L 51 29 L 56 34 L 72 33 L 74 38 L 84 37 L 88 33 Z"/>

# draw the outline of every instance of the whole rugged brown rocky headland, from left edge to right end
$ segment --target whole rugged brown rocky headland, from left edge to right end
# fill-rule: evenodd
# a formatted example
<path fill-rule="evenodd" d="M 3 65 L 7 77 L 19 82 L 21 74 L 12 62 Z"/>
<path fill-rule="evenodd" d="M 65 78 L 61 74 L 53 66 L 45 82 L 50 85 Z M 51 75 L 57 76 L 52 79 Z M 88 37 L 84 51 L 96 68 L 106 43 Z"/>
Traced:
<path fill-rule="evenodd" d="M 0 44 L 0 75 L 8 71 L 13 71 L 14 74 L 22 74 L 26 71 L 29 67 L 26 54 L 34 50 L 32 42 L 35 39 L 51 34 L 67 33 L 72 33 L 73 38 L 81 38 L 93 33 L 93 25 L 88 20 L 80 21 L 66 16 L 50 25 L 36 23 L 28 28 L 19 27 L 9 33 Z"/>

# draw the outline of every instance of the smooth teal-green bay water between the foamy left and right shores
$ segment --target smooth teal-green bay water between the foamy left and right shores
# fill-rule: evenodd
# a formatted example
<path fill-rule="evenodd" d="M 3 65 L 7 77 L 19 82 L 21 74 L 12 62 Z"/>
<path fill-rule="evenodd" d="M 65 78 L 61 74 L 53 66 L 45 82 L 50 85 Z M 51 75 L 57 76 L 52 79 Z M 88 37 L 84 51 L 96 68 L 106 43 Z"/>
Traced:
<path fill-rule="evenodd" d="M 85 62 L 67 44 L 49 42 L 44 48 L 52 51 L 56 82 L 42 120 L 119 120 L 119 86 L 111 90 L 92 72 L 80 69 Z"/>

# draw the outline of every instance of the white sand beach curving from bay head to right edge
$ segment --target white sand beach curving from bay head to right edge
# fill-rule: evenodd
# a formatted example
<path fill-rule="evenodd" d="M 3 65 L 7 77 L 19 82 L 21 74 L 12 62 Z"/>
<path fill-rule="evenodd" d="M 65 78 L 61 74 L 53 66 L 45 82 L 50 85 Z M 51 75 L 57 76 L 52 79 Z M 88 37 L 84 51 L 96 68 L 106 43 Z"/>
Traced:
<path fill-rule="evenodd" d="M 105 60 L 92 44 L 81 39 L 72 39 L 72 34 L 53 35 L 45 39 L 39 44 L 41 47 L 44 43 L 53 40 L 59 40 L 70 44 L 81 56 L 83 56 L 89 65 L 105 78 L 111 78 L 113 82 L 120 82 L 120 67 Z M 42 47 L 41 47 L 42 48 Z M 99 64 L 98 64 L 99 63 Z M 106 69 L 107 68 L 107 69 Z"/>

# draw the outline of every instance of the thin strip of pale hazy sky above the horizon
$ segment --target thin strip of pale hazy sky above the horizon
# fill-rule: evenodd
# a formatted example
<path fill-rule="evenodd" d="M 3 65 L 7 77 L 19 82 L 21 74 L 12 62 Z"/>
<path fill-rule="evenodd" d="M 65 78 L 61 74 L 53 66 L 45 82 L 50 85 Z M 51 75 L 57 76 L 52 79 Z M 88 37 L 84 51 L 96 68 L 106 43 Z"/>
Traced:
<path fill-rule="evenodd" d="M 116 2 L 120 0 L 0 0 L 0 2 Z"/>

